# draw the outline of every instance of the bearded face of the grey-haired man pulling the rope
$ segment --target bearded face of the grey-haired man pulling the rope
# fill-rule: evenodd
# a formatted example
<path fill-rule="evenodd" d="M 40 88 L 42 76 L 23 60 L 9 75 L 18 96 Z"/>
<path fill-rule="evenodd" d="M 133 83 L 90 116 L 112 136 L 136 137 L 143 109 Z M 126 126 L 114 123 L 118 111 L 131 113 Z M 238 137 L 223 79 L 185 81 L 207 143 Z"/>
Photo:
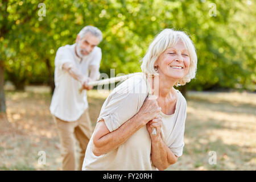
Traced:
<path fill-rule="evenodd" d="M 86 32 L 83 38 L 80 38 L 79 35 L 77 35 L 76 43 L 77 54 L 82 57 L 89 55 L 89 53 L 93 51 L 93 48 L 100 43 L 100 39 L 92 33 Z"/>

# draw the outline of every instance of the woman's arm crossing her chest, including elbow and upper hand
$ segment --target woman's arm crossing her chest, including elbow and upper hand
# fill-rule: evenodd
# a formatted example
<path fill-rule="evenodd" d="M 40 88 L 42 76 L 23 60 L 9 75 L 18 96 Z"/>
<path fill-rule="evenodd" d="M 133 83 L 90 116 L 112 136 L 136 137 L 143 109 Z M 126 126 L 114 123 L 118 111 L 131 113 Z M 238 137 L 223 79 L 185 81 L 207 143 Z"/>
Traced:
<path fill-rule="evenodd" d="M 111 133 L 102 119 L 97 123 L 94 131 L 93 154 L 100 156 L 119 147 L 148 121 L 155 118 L 160 110 L 155 100 L 146 98 L 139 112 Z"/>

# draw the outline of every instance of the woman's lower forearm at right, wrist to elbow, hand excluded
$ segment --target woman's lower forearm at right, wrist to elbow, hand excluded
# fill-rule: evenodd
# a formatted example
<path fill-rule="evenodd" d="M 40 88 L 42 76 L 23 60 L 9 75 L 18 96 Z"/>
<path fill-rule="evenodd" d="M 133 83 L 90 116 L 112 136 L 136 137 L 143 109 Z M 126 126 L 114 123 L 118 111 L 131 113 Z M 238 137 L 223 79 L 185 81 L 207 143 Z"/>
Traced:
<path fill-rule="evenodd" d="M 151 159 L 155 167 L 159 170 L 164 170 L 171 164 L 177 162 L 177 157 L 166 146 L 161 137 L 151 137 L 151 140 Z"/>

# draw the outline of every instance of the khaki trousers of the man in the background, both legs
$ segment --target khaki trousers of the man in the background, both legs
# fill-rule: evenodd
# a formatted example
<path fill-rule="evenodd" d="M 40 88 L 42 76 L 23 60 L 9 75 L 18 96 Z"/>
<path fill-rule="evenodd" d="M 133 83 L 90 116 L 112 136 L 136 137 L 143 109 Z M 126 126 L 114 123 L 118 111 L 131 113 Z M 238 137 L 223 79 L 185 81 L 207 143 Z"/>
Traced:
<path fill-rule="evenodd" d="M 61 142 L 61 156 L 62 169 L 65 171 L 76 170 L 76 159 L 75 159 L 75 144 L 76 140 L 79 142 L 81 148 L 79 170 L 82 169 L 82 163 L 84 162 L 84 155 L 86 147 L 92 137 L 92 126 L 90 122 L 90 116 L 88 109 L 81 115 L 77 121 L 67 122 L 57 117 L 53 117 L 59 130 L 60 142 Z"/>

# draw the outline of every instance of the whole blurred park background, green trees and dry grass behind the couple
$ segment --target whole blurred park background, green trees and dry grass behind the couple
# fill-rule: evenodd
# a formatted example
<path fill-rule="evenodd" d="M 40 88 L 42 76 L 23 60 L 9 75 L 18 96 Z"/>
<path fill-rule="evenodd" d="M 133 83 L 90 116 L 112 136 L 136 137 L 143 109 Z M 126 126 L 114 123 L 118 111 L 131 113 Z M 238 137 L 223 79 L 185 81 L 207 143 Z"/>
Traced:
<path fill-rule="evenodd" d="M 139 60 L 164 28 L 187 32 L 197 75 L 178 88 L 188 104 L 185 146 L 168 170 L 255 170 L 255 10 L 249 0 L 0 0 L 0 170 L 61 168 L 49 113 L 54 59 L 86 25 L 103 33 L 100 72 L 109 76 L 110 69 L 140 72 Z M 93 126 L 106 97 L 88 92 Z"/>

